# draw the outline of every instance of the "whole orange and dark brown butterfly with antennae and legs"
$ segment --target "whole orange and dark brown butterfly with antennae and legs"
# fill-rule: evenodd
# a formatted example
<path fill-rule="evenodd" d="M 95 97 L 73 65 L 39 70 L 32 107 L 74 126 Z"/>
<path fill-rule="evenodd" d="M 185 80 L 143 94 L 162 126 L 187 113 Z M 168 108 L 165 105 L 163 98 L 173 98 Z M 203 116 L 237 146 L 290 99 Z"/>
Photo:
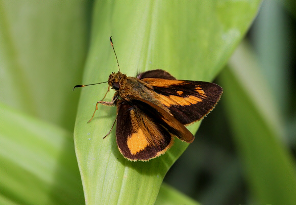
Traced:
<path fill-rule="evenodd" d="M 110 41 L 115 53 L 111 37 Z M 117 60 L 116 53 L 115 57 Z M 116 91 L 112 101 L 103 101 L 107 91 L 95 111 L 98 104 L 117 106 L 117 145 L 131 161 L 149 161 L 162 155 L 173 144 L 174 136 L 192 142 L 194 136 L 185 126 L 203 119 L 222 94 L 222 88 L 214 83 L 176 80 L 164 70 L 146 71 L 134 78 L 122 74 L 119 64 L 118 69 L 108 79 L 108 91 L 110 87 Z"/>

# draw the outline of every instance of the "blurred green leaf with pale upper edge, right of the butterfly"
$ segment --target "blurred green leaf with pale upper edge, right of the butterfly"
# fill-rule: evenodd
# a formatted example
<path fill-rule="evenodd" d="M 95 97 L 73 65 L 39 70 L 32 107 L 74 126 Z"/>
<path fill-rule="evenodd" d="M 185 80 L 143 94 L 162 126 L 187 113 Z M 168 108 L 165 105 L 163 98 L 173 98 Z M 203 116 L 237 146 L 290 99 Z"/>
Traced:
<path fill-rule="evenodd" d="M 295 164 L 281 141 L 274 99 L 253 62 L 241 47 L 220 79 L 237 151 L 255 203 L 295 204 Z"/>

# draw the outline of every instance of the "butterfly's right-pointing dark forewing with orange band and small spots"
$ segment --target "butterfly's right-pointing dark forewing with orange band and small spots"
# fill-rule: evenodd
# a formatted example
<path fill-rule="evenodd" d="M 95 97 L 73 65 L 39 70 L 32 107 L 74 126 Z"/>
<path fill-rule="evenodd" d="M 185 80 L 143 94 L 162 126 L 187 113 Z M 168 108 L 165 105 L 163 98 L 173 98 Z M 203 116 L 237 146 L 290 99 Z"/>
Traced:
<path fill-rule="evenodd" d="M 171 79 L 141 79 L 152 87 L 155 97 L 182 124 L 207 115 L 220 99 L 222 88 L 214 83 Z"/>

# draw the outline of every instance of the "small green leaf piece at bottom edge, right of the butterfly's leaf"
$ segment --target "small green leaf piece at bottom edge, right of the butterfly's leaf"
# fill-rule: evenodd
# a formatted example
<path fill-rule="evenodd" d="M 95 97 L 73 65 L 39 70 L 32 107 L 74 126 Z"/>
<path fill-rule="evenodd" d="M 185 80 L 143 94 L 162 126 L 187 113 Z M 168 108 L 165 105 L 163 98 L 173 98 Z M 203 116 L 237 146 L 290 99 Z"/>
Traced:
<path fill-rule="evenodd" d="M 172 204 L 195 204 L 199 203 L 179 192 L 178 190 L 163 183 L 159 189 L 159 193 L 155 204 L 172 205 Z"/>

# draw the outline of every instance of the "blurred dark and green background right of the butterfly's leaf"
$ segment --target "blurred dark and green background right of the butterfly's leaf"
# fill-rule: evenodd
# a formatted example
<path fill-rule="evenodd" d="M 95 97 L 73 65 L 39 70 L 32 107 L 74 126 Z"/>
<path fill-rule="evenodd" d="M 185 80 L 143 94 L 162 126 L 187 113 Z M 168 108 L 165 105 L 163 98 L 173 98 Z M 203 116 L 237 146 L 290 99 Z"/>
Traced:
<path fill-rule="evenodd" d="M 223 97 L 164 179 L 199 202 L 284 203 L 289 193 L 296 202 L 296 3 L 282 3 L 262 3 L 215 80 Z M 290 160 L 292 178 L 280 155 Z"/>

